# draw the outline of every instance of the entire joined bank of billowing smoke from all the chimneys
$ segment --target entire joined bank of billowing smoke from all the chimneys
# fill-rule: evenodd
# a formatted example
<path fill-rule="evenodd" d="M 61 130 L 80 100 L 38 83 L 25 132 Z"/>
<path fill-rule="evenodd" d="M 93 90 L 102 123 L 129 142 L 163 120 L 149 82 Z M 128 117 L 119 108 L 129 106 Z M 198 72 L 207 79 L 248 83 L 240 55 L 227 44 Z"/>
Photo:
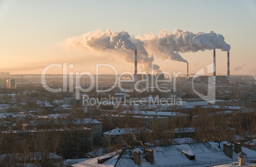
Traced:
<path fill-rule="evenodd" d="M 118 50 L 120 56 L 127 62 L 134 62 L 134 53 L 127 51 L 138 50 L 138 65 L 141 69 L 149 71 L 154 57 L 186 62 L 179 53 L 196 52 L 204 50 L 229 51 L 231 46 L 224 41 L 224 37 L 213 31 L 208 33 L 196 32 L 196 34 L 180 29 L 173 33 L 160 30 L 159 34 L 148 33 L 136 38 L 131 37 L 128 32 L 113 32 L 106 30 L 94 30 L 82 36 L 69 37 L 66 44 L 71 48 L 80 48 L 91 51 L 113 51 Z M 159 65 L 153 69 L 159 70 Z"/>

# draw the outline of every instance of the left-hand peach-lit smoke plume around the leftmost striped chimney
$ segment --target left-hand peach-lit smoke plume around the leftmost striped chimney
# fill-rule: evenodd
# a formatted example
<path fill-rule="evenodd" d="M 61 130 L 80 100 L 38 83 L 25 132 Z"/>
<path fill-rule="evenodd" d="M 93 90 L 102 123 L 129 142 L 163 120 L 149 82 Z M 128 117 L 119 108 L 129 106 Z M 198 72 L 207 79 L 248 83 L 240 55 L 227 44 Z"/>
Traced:
<path fill-rule="evenodd" d="M 80 48 L 82 50 L 91 51 L 112 51 L 118 50 L 120 56 L 124 57 L 127 62 L 134 62 L 134 51 L 138 50 L 138 65 L 146 71 L 150 71 L 153 57 L 148 55 L 148 52 L 144 48 L 143 41 L 131 37 L 128 32 L 113 32 L 106 30 L 94 30 L 87 32 L 82 36 L 69 37 L 66 40 L 66 44 L 71 48 Z M 124 51 L 125 50 L 125 51 Z M 159 71 L 159 65 L 154 65 L 154 70 Z"/>

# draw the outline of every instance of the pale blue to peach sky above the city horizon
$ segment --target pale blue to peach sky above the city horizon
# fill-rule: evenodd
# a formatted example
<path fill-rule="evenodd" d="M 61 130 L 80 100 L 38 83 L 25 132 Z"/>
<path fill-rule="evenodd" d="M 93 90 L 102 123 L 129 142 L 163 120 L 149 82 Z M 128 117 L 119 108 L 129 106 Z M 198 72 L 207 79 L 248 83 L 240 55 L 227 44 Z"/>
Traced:
<path fill-rule="evenodd" d="M 256 1 L 13 1 L 0 0 L 0 72 L 41 74 L 52 63 L 73 64 L 71 72 L 96 73 L 96 64 L 120 74 L 134 64 L 118 51 L 96 53 L 63 46 L 69 37 L 94 30 L 125 30 L 132 37 L 166 29 L 196 33 L 213 30 L 231 45 L 231 75 L 256 76 Z M 180 53 L 190 73 L 213 62 L 213 51 Z M 227 52 L 216 50 L 217 75 L 227 74 Z M 138 55 L 139 57 L 139 55 Z M 187 73 L 187 64 L 154 58 L 166 72 Z M 141 69 L 138 69 L 141 70 Z M 100 74 L 113 74 L 100 67 Z M 62 74 L 52 68 L 47 74 Z"/>

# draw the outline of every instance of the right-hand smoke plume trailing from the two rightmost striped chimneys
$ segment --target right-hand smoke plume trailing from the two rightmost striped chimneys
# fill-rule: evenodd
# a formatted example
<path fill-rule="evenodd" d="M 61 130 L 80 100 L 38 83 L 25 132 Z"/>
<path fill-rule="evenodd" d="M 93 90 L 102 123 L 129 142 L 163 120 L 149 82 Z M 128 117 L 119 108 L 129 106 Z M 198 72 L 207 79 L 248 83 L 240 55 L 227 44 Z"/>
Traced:
<path fill-rule="evenodd" d="M 148 33 L 138 36 L 145 43 L 148 53 L 163 59 L 187 62 L 180 56 L 180 53 L 196 52 L 204 50 L 229 51 L 231 46 L 224 41 L 224 37 L 213 31 L 208 33 L 197 32 L 196 34 L 180 29 L 173 33 L 167 30 L 160 30 L 159 34 Z"/>

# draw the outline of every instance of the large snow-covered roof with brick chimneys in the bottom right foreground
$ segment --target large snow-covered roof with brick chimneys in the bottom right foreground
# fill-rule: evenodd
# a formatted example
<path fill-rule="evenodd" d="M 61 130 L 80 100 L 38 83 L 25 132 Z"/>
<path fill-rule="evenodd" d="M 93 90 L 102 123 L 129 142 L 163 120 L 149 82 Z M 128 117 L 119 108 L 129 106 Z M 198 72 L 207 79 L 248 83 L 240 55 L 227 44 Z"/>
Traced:
<path fill-rule="evenodd" d="M 141 154 L 141 166 L 210 166 L 224 163 L 231 163 L 238 161 L 238 154 L 233 151 L 233 158 L 231 159 L 223 152 L 223 144 L 228 142 L 220 142 L 221 148 L 218 147 L 218 142 L 201 142 L 193 144 L 178 144 L 178 145 L 162 145 L 162 146 L 150 146 L 145 149 L 153 150 L 154 164 L 150 164 L 145 158 L 143 147 L 132 148 L 131 152 L 138 150 Z M 256 152 L 250 149 L 242 147 L 245 152 L 246 159 L 256 159 Z M 188 152 L 195 156 L 194 160 L 188 159 L 182 152 Z M 118 158 L 119 157 L 119 158 Z M 130 149 L 118 150 L 104 156 L 96 157 L 83 161 L 82 163 L 74 164 L 73 167 L 85 167 L 85 166 L 138 166 L 131 159 Z M 102 164 L 98 164 L 98 159 L 106 159 Z"/>

